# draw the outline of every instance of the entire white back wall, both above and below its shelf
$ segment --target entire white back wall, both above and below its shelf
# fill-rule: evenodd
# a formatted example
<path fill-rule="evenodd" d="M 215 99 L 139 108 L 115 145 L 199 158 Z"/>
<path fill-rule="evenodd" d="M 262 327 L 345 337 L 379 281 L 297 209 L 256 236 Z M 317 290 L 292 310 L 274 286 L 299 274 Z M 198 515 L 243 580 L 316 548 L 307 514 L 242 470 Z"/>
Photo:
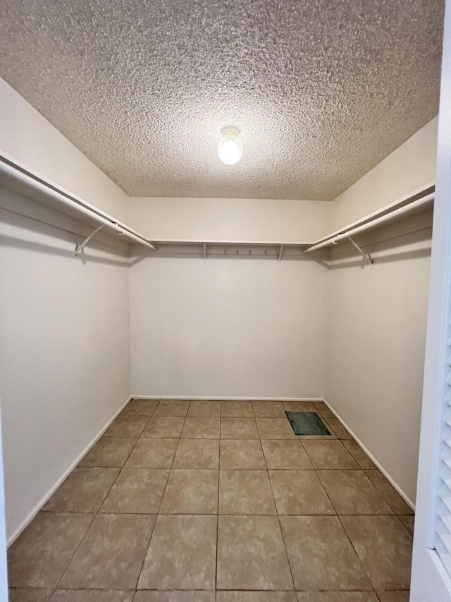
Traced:
<path fill-rule="evenodd" d="M 330 203 L 130 198 L 149 239 L 314 241 Z M 133 395 L 323 397 L 326 268 L 312 258 L 147 257 L 130 272 Z"/>

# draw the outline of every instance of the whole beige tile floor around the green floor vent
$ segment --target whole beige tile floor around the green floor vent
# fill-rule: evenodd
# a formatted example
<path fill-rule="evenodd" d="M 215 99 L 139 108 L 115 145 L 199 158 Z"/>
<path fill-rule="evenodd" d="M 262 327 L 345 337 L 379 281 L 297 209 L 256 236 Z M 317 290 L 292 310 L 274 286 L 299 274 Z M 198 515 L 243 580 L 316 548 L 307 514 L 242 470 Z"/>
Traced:
<path fill-rule="evenodd" d="M 132 400 L 11 546 L 10 599 L 408 602 L 413 525 L 325 404 Z"/>

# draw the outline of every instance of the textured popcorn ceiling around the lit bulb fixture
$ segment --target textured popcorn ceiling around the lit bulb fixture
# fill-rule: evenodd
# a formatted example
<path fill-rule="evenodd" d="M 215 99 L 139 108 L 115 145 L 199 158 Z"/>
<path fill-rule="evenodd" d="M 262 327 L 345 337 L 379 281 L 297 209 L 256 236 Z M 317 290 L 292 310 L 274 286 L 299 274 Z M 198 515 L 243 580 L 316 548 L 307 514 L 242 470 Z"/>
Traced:
<path fill-rule="evenodd" d="M 0 76 L 129 195 L 331 200 L 437 114 L 443 4 L 0 0 Z"/>

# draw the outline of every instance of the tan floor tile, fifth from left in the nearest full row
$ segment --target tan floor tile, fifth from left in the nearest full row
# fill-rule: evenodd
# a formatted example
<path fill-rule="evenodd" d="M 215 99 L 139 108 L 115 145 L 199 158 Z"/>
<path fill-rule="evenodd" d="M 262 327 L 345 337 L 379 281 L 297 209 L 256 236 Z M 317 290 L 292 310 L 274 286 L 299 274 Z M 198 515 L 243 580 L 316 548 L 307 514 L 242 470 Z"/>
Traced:
<path fill-rule="evenodd" d="M 371 589 L 338 517 L 280 517 L 280 523 L 296 589 Z"/>

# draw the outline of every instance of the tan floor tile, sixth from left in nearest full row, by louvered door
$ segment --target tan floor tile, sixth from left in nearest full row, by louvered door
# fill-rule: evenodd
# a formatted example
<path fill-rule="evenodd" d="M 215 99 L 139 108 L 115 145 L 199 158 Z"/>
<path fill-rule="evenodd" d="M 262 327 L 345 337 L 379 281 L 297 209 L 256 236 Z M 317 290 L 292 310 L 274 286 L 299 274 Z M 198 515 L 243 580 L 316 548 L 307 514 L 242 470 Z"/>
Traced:
<path fill-rule="evenodd" d="M 375 589 L 409 589 L 412 536 L 397 517 L 340 517 Z"/>

